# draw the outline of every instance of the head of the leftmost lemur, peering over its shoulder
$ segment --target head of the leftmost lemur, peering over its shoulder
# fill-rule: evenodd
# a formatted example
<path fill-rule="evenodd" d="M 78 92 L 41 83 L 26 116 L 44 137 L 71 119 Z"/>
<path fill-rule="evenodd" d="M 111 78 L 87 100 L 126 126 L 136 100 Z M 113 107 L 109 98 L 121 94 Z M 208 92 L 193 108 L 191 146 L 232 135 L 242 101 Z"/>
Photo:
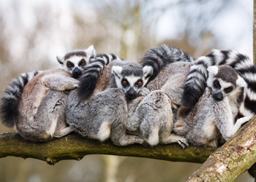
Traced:
<path fill-rule="evenodd" d="M 77 50 L 68 52 L 64 56 L 57 56 L 57 60 L 65 71 L 69 71 L 74 78 L 79 78 L 95 55 L 94 46 L 91 45 L 87 50 Z"/>

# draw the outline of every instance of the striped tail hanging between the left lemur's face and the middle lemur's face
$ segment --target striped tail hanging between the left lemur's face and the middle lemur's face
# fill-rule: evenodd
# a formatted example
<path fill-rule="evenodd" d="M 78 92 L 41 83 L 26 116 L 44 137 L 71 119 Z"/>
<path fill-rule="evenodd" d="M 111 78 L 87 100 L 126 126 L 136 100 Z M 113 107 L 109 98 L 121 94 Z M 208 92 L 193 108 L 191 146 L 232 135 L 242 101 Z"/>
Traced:
<path fill-rule="evenodd" d="M 78 97 L 80 100 L 86 100 L 90 98 L 94 92 L 99 76 L 102 73 L 105 66 L 113 60 L 121 60 L 116 55 L 97 55 L 94 60 L 86 66 L 85 71 L 80 78 L 78 87 Z"/>

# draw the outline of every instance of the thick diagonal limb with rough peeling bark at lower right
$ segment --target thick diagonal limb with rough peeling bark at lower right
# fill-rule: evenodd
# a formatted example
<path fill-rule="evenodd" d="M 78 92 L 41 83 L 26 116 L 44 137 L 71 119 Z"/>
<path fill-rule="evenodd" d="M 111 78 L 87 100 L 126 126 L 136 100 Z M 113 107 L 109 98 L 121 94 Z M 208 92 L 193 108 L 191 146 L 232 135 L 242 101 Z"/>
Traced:
<path fill-rule="evenodd" d="M 206 160 L 187 181 L 235 181 L 256 162 L 256 116 Z"/>

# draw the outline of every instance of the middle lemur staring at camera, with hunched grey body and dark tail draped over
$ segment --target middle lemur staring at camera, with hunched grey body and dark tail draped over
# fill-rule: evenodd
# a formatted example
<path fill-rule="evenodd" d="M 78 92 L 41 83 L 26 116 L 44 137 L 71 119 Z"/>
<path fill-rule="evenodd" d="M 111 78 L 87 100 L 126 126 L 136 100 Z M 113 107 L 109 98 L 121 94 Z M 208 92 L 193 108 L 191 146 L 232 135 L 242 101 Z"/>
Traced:
<path fill-rule="evenodd" d="M 127 134 L 127 98 L 147 94 L 143 86 L 152 71 L 124 60 L 112 61 L 103 71 L 100 66 L 87 69 L 67 100 L 70 130 L 99 141 L 110 138 L 119 146 L 143 144 L 143 138 Z"/>

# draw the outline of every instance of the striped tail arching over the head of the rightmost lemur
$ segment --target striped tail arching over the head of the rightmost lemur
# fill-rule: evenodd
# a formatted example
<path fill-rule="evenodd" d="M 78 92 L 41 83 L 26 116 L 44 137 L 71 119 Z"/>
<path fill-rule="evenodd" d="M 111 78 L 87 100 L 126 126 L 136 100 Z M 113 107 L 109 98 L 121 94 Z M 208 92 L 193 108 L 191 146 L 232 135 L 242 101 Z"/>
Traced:
<path fill-rule="evenodd" d="M 246 81 L 246 98 L 241 114 L 253 116 L 256 114 L 256 67 L 248 56 L 232 50 L 213 50 L 210 54 L 200 57 L 191 67 L 187 81 L 184 84 L 182 103 L 192 107 L 203 95 L 208 78 L 209 66 L 229 65 Z"/>

